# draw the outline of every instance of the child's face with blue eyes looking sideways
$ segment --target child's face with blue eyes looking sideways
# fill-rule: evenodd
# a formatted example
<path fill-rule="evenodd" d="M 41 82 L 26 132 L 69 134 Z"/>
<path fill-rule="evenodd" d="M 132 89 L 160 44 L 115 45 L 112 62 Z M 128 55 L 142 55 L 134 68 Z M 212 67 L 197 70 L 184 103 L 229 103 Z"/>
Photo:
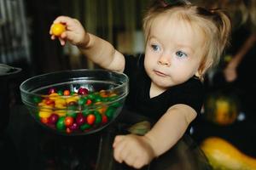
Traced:
<path fill-rule="evenodd" d="M 202 42 L 201 31 L 185 21 L 157 17 L 149 32 L 144 60 L 152 82 L 169 88 L 198 76 Z"/>

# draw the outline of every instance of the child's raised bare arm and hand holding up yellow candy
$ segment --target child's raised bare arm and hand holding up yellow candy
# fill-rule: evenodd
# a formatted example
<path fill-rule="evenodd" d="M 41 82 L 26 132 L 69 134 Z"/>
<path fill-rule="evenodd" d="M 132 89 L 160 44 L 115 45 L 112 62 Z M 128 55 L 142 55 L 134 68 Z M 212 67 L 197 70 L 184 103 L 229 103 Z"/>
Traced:
<path fill-rule="evenodd" d="M 113 48 L 111 43 L 85 31 L 79 20 L 67 16 L 59 16 L 54 20 L 54 23 L 61 23 L 66 26 L 66 31 L 63 31 L 61 36 L 58 37 L 61 45 L 70 42 L 77 46 L 81 53 L 96 65 L 111 71 L 124 71 L 124 55 Z M 49 34 L 51 39 L 54 40 L 56 38 L 51 31 L 49 31 Z"/>

